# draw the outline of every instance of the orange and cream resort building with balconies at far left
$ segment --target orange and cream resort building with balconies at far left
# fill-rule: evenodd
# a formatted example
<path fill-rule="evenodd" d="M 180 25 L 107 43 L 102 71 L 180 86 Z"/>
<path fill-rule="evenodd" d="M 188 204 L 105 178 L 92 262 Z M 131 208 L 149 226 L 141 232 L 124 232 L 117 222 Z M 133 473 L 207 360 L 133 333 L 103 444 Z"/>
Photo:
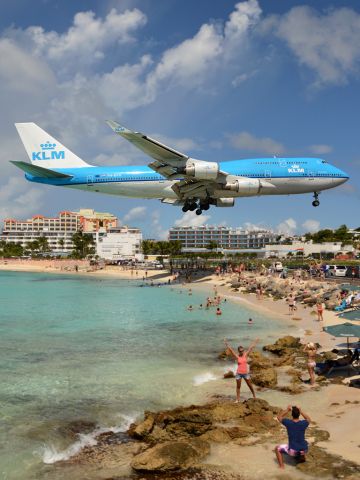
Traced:
<path fill-rule="evenodd" d="M 48 218 L 34 215 L 28 220 L 7 218 L 0 240 L 20 244 L 27 247 L 29 242 L 40 237 L 47 239 L 50 252 L 53 254 L 68 254 L 73 250 L 72 236 L 83 230 L 92 233 L 106 233 L 108 229 L 117 226 L 117 218 L 111 213 L 95 212 L 91 209 L 81 209 L 79 212 L 63 211 L 58 217 Z"/>

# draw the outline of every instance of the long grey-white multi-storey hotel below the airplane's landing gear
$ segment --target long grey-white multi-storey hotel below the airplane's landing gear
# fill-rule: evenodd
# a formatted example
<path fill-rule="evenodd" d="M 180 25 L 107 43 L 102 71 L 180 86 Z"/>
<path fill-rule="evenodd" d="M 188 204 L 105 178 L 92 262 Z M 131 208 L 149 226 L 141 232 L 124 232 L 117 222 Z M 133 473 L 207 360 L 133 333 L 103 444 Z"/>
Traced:
<path fill-rule="evenodd" d="M 241 251 L 261 249 L 278 243 L 279 235 L 269 230 L 244 230 L 222 226 L 173 227 L 169 240 L 179 240 L 184 252 L 209 250 L 215 244 L 220 250 Z"/>

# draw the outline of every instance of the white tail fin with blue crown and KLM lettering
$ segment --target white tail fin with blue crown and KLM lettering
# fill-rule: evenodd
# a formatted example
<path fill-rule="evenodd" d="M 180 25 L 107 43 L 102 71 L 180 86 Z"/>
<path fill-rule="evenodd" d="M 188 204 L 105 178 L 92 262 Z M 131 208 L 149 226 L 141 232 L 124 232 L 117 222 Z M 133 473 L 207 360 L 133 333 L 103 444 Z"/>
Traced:
<path fill-rule="evenodd" d="M 33 165 L 43 168 L 91 167 L 36 123 L 15 123 L 26 153 Z"/>

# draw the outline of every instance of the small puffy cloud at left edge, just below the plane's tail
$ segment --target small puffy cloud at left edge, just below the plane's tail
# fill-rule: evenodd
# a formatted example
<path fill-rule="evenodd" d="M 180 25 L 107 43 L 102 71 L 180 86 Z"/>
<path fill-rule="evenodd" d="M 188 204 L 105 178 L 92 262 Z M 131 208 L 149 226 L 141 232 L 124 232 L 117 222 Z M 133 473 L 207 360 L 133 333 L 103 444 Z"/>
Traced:
<path fill-rule="evenodd" d="M 24 191 L 19 178 L 10 177 L 8 182 L 0 187 L 0 218 L 20 218 L 32 214 L 42 206 L 43 192 L 39 188 Z"/>

